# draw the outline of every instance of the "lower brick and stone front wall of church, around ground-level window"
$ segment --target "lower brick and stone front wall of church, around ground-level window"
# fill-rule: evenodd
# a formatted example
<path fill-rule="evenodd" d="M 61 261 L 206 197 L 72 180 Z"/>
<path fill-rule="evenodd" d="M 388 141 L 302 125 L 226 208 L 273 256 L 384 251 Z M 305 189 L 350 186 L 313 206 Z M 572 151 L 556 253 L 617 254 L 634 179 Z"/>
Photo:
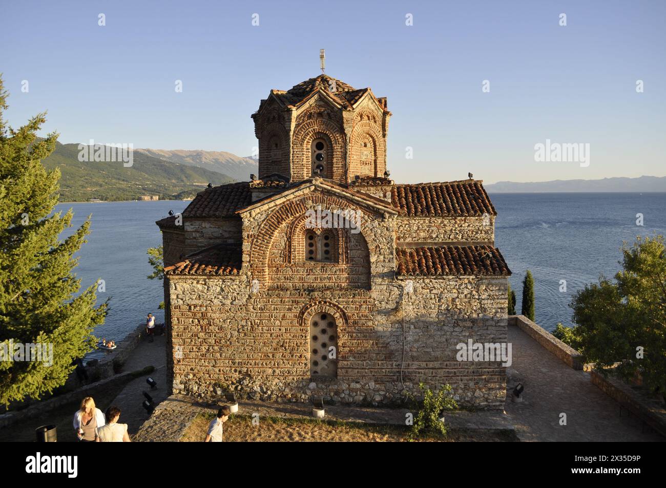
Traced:
<path fill-rule="evenodd" d="M 400 401 L 402 383 L 415 393 L 424 381 L 450 383 L 462 405 L 503 404 L 504 368 L 458 362 L 456 345 L 505 342 L 505 278 L 420 278 L 410 296 L 388 282 L 374 290 L 256 294 L 246 276 L 174 276 L 169 283 L 174 393 L 207 396 L 220 385 L 272 401 L 386 404 Z M 336 320 L 335 379 L 310 377 L 308 320 L 315 312 Z"/>

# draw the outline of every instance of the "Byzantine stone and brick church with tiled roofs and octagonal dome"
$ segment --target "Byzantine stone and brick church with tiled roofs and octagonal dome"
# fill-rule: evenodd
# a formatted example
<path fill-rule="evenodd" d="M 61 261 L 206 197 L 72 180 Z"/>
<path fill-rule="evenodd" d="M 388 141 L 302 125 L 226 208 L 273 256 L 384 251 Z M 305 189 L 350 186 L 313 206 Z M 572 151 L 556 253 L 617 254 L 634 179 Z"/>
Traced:
<path fill-rule="evenodd" d="M 272 90 L 252 115 L 258 174 L 157 222 L 172 393 L 389 405 L 449 383 L 502 407 L 501 362 L 456 357 L 507 340 L 496 210 L 471 175 L 394 182 L 390 117 L 328 75 Z"/>

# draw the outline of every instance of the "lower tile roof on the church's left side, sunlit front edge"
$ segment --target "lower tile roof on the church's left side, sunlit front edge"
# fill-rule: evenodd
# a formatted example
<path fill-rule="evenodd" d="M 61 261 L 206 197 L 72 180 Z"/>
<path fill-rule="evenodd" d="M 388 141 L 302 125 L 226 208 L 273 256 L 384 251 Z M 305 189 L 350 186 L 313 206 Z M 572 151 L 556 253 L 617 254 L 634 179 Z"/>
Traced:
<path fill-rule="evenodd" d="M 240 246 L 218 244 L 190 254 L 173 266 L 166 266 L 165 274 L 234 276 L 240 273 L 241 262 Z"/>

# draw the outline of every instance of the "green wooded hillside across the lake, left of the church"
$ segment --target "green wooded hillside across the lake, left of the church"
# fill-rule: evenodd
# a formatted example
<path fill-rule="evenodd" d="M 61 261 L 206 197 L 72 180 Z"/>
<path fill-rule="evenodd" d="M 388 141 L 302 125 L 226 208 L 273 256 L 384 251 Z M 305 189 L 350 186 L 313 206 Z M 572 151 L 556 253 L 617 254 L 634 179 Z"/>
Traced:
<path fill-rule="evenodd" d="M 177 164 L 154 158 L 137 150 L 133 166 L 123 162 L 80 162 L 79 144 L 57 143 L 53 154 L 43 163 L 47 169 L 59 168 L 61 202 L 100 200 L 137 200 L 141 195 L 160 199 L 188 198 L 208 182 L 214 185 L 232 181 L 220 172 Z"/>

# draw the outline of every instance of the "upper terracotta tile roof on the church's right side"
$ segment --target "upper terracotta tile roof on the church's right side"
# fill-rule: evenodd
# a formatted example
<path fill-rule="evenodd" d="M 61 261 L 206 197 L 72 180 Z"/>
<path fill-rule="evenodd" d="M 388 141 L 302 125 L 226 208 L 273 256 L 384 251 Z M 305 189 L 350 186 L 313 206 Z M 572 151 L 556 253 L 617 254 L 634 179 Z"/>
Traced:
<path fill-rule="evenodd" d="M 410 217 L 497 215 L 480 180 L 396 184 L 391 200 Z"/>

